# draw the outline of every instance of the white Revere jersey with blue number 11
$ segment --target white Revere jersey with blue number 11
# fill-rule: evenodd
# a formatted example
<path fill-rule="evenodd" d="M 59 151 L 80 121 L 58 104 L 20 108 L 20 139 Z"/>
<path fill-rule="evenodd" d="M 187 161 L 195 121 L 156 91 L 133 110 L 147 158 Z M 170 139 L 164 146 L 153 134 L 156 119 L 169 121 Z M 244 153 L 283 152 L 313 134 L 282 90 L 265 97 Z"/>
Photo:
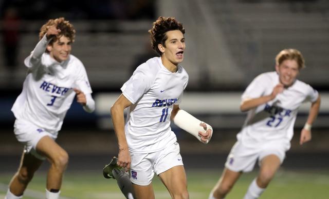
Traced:
<path fill-rule="evenodd" d="M 188 74 L 178 66 L 170 72 L 160 57 L 149 59 L 124 83 L 123 95 L 133 104 L 128 108 L 125 135 L 130 151 L 150 153 L 177 141 L 170 128 L 174 104 L 179 104 L 188 84 Z"/>

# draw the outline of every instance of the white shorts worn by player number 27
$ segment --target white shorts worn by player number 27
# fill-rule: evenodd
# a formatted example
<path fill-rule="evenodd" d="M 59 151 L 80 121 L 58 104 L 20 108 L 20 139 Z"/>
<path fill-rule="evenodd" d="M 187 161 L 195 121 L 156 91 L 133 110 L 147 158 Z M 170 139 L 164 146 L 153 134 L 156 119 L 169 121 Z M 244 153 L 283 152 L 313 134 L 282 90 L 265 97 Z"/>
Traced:
<path fill-rule="evenodd" d="M 241 141 L 237 141 L 227 157 L 225 167 L 235 172 L 250 172 L 257 160 L 260 165 L 262 159 L 271 154 L 278 156 L 282 164 L 289 148 L 290 143 L 286 141 L 265 142 L 253 146 L 245 146 Z"/>

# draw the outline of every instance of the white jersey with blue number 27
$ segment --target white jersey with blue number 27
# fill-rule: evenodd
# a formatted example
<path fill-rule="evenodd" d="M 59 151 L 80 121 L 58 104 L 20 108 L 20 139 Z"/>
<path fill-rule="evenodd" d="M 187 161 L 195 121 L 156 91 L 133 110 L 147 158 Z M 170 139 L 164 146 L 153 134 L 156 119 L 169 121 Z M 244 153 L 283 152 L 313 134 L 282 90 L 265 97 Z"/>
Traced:
<path fill-rule="evenodd" d="M 242 100 L 272 93 L 279 84 L 277 72 L 260 74 L 247 87 Z M 290 141 L 298 108 L 303 102 L 315 102 L 318 92 L 299 80 L 276 96 L 275 99 L 248 111 L 245 124 L 237 135 L 245 144 L 278 139 Z"/>

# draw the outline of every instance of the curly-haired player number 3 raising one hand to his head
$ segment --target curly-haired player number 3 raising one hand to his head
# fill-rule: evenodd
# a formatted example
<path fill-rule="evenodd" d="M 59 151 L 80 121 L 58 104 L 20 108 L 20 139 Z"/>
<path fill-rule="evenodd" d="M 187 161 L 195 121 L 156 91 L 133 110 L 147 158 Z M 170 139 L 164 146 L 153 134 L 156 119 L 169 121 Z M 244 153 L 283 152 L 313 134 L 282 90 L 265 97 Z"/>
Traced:
<path fill-rule="evenodd" d="M 16 117 L 15 136 L 25 148 L 20 167 L 9 184 L 7 199 L 23 197 L 45 159 L 50 163 L 46 198 L 59 198 L 68 154 L 55 142 L 58 131 L 75 96 L 85 111 L 95 109 L 86 70 L 70 54 L 75 33 L 64 18 L 50 19 L 41 27 L 40 41 L 24 61 L 28 74 L 11 110 Z"/>

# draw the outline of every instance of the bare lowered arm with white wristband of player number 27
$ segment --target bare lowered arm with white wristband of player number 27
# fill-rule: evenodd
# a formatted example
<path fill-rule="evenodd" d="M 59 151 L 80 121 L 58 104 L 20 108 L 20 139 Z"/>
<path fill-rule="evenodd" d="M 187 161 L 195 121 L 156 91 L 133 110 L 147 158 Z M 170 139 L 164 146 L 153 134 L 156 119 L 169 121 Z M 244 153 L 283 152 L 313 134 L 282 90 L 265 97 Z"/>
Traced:
<path fill-rule="evenodd" d="M 312 128 L 313 122 L 315 121 L 316 117 L 318 116 L 320 104 L 321 104 L 321 97 L 319 94 L 317 100 L 314 103 L 312 103 L 312 105 L 310 106 L 307 121 L 305 123 L 304 128 L 302 129 L 302 132 L 300 133 L 300 140 L 299 140 L 300 145 L 302 145 L 305 142 L 308 142 L 312 139 L 311 128 Z"/>

